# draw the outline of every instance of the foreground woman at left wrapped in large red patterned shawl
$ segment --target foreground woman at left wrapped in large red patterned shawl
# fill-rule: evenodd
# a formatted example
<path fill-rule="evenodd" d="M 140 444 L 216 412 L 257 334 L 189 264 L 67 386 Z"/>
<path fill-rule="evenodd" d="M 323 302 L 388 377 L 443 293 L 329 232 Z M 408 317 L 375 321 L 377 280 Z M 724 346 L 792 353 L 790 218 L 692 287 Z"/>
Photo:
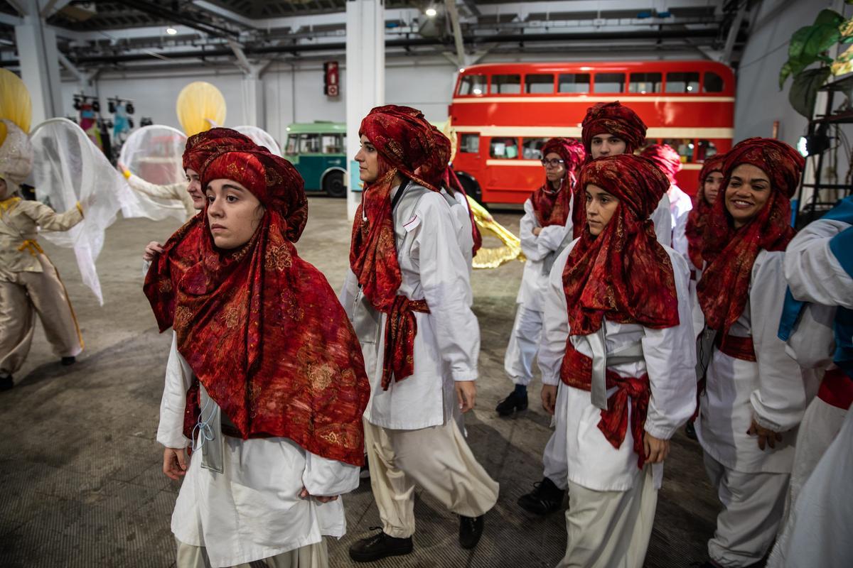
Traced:
<path fill-rule="evenodd" d="M 165 473 L 184 476 L 177 554 L 192 565 L 328 565 L 322 536 L 342 536 L 336 499 L 363 463 L 357 336 L 297 254 L 308 203 L 293 166 L 235 144 L 201 167 L 205 215 L 165 244 L 145 288 L 160 329 L 175 329 L 158 440 Z"/>

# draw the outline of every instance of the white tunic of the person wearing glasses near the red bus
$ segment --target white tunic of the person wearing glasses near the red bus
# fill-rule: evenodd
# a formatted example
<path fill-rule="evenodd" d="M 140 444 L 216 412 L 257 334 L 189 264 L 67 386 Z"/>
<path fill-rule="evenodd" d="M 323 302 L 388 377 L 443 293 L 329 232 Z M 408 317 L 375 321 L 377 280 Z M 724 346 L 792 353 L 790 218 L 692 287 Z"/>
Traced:
<path fill-rule="evenodd" d="M 566 191 L 563 189 L 561 191 Z M 570 200 L 573 205 L 574 200 Z M 515 301 L 528 310 L 542 312 L 542 295 L 548 287 L 548 273 L 543 273 L 543 262 L 545 258 L 560 248 L 563 239 L 572 238 L 572 208 L 566 217 L 566 225 L 549 225 L 542 227 L 539 235 L 533 234 L 533 229 L 542 227 L 536 218 L 531 199 L 525 201 L 525 215 L 521 217 L 519 233 L 521 238 L 521 251 L 527 257 L 525 271 L 521 275 L 519 295 Z"/>

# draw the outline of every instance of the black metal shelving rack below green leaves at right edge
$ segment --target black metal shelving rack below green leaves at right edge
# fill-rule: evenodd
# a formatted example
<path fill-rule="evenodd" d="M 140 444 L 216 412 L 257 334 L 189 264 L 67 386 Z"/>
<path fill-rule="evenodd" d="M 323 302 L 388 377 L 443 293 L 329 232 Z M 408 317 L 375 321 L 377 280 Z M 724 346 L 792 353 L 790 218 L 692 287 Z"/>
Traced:
<path fill-rule="evenodd" d="M 821 127 L 828 128 L 829 125 L 834 124 L 853 124 L 853 110 L 833 114 L 833 99 L 835 98 L 835 94 L 841 92 L 853 92 L 853 75 L 848 75 L 838 81 L 833 81 L 833 83 L 824 85 L 821 87 L 821 92 L 827 94 L 826 112 L 809 120 L 809 136 L 817 134 Z M 853 100 L 850 102 L 853 103 Z M 853 192 L 853 185 L 850 184 L 821 182 L 821 176 L 823 175 L 823 157 L 827 150 L 823 150 L 816 156 L 809 156 L 809 158 L 817 158 L 817 164 L 815 166 L 815 182 L 805 182 L 804 170 L 803 181 L 797 192 L 798 210 L 794 212 L 794 224 L 796 227 L 804 227 L 810 221 L 818 219 L 821 215 L 826 213 L 827 210 L 833 208 L 837 203 L 837 200 L 834 198 L 828 199 L 824 195 L 825 192 L 830 190 L 841 192 L 841 195 L 838 196 L 839 198 L 844 198 Z M 850 166 L 853 167 L 853 164 L 850 164 Z M 813 192 L 808 203 L 803 204 L 803 190 L 806 187 L 812 189 Z"/>

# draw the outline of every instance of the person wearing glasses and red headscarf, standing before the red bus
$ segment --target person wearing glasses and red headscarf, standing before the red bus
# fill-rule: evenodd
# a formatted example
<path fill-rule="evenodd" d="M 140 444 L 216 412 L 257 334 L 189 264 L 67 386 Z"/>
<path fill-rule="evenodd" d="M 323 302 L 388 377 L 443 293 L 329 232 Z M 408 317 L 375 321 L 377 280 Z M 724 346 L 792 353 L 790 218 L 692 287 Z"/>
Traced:
<path fill-rule="evenodd" d="M 521 278 L 513 331 L 503 359 L 514 388 L 495 410 L 510 416 L 527 408 L 527 385 L 533 379 L 533 358 L 542 335 L 540 296 L 560 250 L 572 240 L 572 187 L 586 152 L 578 141 L 552 138 L 542 148 L 545 181 L 525 201 L 521 218 L 521 250 L 527 257 Z"/>

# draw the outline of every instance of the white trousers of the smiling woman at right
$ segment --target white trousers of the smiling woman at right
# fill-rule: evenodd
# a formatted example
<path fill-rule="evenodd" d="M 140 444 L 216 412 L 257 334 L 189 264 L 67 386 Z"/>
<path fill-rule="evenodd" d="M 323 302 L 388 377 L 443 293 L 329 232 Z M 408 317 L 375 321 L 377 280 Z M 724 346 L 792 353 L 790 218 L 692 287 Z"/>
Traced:
<path fill-rule="evenodd" d="M 707 453 L 704 460 L 722 503 L 708 555 L 726 568 L 755 564 L 767 554 L 779 530 L 791 475 L 735 471 Z"/>

